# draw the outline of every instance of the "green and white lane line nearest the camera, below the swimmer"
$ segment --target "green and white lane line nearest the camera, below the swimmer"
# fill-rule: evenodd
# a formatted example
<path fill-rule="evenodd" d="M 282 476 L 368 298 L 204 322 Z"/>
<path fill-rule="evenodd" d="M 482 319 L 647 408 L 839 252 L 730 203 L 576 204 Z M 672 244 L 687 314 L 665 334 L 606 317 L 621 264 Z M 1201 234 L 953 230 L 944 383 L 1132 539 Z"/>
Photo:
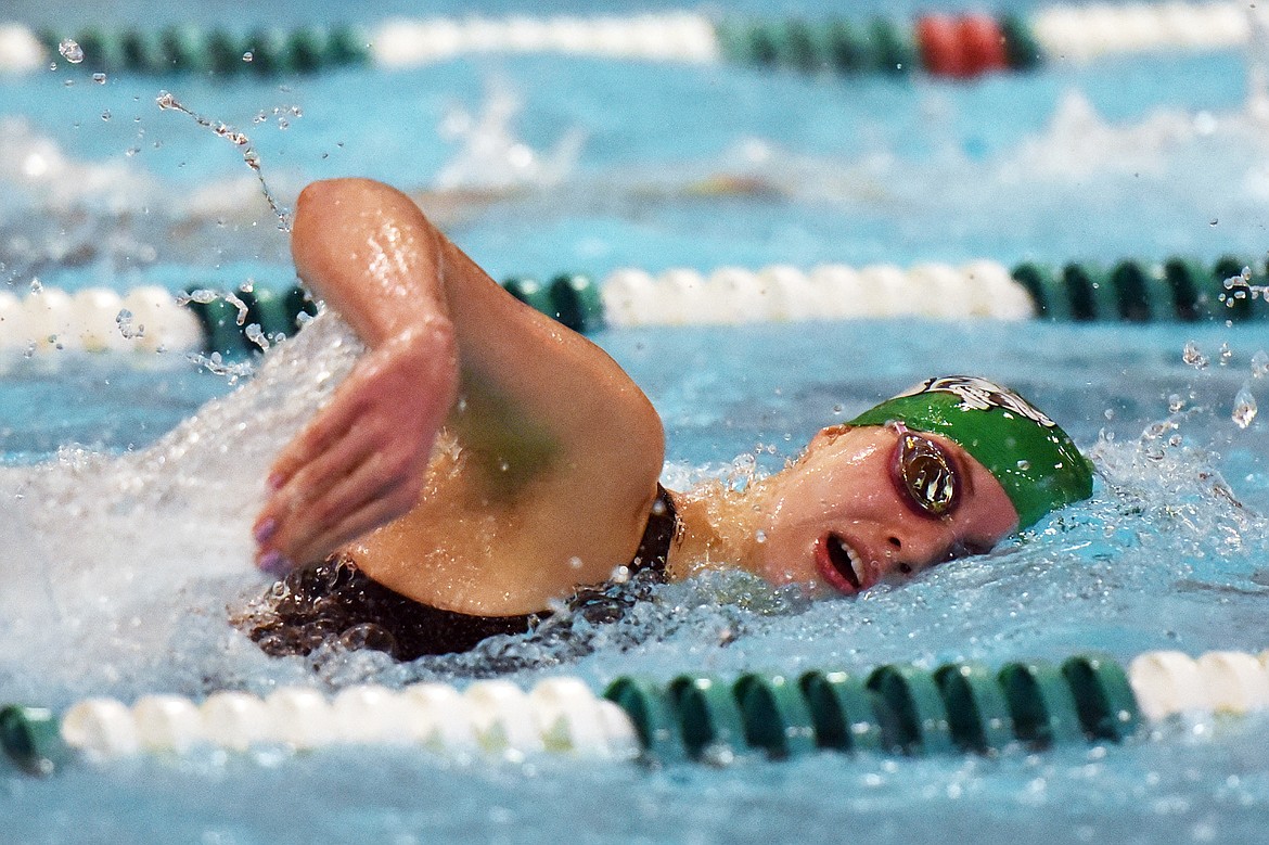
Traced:
<path fill-rule="evenodd" d="M 886 664 L 862 672 L 749 671 L 728 680 L 687 672 L 669 681 L 621 676 L 596 693 L 576 678 L 530 690 L 508 680 L 458 690 L 349 686 L 331 698 L 280 688 L 265 698 L 225 690 L 195 703 L 145 695 L 127 707 L 90 698 L 57 714 L 0 708 L 0 747 L 18 769 L 49 775 L 80 757 L 180 756 L 201 749 L 306 752 L 331 746 L 423 747 L 464 761 L 726 765 L 754 755 L 892 756 L 1038 752 L 1119 743 L 1171 719 L 1269 711 L 1269 651 L 1175 651 L 1124 670 L 1099 653 L 999 669 L 957 661 L 928 670 Z"/>

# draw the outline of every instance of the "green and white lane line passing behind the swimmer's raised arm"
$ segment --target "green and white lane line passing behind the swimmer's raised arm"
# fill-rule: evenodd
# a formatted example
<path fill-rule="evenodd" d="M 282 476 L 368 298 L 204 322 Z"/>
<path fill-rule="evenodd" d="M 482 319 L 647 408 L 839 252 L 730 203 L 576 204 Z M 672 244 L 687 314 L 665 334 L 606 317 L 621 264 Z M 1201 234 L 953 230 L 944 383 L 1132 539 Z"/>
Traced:
<path fill-rule="evenodd" d="M 513 297 L 588 334 L 607 326 L 706 326 L 811 320 L 1042 320 L 1056 322 L 1246 322 L 1269 318 L 1269 269 L 1223 256 L 1124 260 L 1114 265 L 1027 261 L 1013 270 L 990 260 L 961 266 L 825 264 L 759 270 L 673 268 L 652 275 L 621 269 L 595 283 L 581 273 L 547 282 L 513 277 Z M 291 285 L 173 294 L 151 285 L 122 294 L 41 287 L 27 297 L 0 292 L 0 351 L 33 355 L 199 351 L 242 359 L 294 335 L 317 305 Z"/>

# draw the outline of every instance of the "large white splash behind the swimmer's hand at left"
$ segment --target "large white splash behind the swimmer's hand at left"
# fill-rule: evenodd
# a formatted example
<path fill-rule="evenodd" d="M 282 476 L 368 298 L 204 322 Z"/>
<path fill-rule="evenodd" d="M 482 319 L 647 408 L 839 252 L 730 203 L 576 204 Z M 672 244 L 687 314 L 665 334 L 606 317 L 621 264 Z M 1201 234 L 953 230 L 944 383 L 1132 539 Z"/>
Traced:
<path fill-rule="evenodd" d="M 264 580 L 251 563 L 250 520 L 266 468 L 360 349 L 346 325 L 322 315 L 253 381 L 147 449 L 66 448 L 46 464 L 0 468 L 0 534 L 13 543 L 0 563 L 0 619 L 15 646 L 0 655 L 0 678 L 38 684 L 41 697 L 85 683 L 137 694 L 155 683 L 138 678 L 156 664 L 197 689 L 207 660 L 221 660 L 209 655 L 241 648 L 255 660 L 225 606 Z"/>

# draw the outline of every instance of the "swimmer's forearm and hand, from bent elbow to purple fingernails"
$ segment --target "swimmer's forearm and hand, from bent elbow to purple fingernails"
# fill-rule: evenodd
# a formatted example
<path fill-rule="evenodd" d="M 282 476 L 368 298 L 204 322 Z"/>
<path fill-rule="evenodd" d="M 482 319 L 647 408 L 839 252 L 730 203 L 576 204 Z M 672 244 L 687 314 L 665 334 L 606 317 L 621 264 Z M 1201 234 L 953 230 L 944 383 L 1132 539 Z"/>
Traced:
<path fill-rule="evenodd" d="M 301 193 L 296 270 L 368 353 L 273 466 L 255 523 L 263 568 L 325 557 L 418 500 L 458 390 L 440 239 L 409 198 L 376 183 L 315 183 Z"/>

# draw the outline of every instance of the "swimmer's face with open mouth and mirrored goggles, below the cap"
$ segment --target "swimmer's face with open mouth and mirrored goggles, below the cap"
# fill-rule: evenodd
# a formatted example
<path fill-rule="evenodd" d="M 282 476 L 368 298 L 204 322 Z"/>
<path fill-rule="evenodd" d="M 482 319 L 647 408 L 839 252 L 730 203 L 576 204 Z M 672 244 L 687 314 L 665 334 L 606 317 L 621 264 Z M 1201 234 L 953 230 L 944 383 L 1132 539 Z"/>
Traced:
<path fill-rule="evenodd" d="M 853 595 L 991 549 L 1018 525 L 1018 511 L 1000 482 L 947 438 L 838 425 L 772 480 L 759 521 L 759 575 Z"/>

